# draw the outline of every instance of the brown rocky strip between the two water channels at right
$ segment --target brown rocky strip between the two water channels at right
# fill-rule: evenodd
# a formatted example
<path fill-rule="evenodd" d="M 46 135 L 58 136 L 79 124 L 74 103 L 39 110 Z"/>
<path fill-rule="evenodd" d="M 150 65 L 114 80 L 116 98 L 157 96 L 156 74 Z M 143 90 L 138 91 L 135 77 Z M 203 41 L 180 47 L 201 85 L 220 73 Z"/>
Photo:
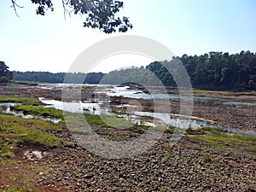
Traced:
<path fill-rule="evenodd" d="M 113 105 L 129 104 L 133 100 L 120 96 L 112 97 Z M 166 113 L 166 100 L 158 100 L 157 106 L 154 105 L 154 101 L 139 99 L 137 102 L 143 106 L 143 111 L 154 112 L 157 110 Z M 170 113 L 180 113 L 179 102 L 173 102 L 171 100 L 169 104 Z M 194 102 L 192 116 L 211 120 L 225 127 L 232 127 L 244 131 L 256 131 L 256 106 L 224 105 L 219 102 L 197 101 Z"/>

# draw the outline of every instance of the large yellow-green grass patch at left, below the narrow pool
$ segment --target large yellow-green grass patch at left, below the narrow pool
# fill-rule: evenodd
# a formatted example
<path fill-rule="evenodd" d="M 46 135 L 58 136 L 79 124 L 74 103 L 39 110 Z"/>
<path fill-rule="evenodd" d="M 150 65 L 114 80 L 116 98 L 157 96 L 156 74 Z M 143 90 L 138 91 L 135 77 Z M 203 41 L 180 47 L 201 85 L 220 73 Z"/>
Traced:
<path fill-rule="evenodd" d="M 21 119 L 0 113 L 0 157 L 10 157 L 10 149 L 15 143 L 37 144 L 53 147 L 61 142 L 45 131 L 61 130 L 61 127 L 40 119 Z"/>

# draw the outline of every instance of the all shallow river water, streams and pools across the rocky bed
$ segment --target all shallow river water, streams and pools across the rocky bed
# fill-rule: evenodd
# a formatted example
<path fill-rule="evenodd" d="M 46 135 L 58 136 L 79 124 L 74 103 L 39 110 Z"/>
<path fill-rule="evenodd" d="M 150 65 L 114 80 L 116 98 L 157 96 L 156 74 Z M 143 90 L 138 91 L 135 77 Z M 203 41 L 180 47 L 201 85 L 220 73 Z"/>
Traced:
<path fill-rule="evenodd" d="M 88 86 L 89 84 L 85 84 L 85 86 Z M 41 86 L 43 89 L 60 89 L 63 86 L 77 86 L 79 88 L 82 88 L 84 84 L 53 84 L 53 85 L 45 85 Z M 177 101 L 180 100 L 179 95 L 175 94 L 146 94 L 143 93 L 142 90 L 130 90 L 128 86 L 125 87 L 118 87 L 113 85 L 102 85 L 102 84 L 91 84 L 90 86 L 98 87 L 99 89 L 96 89 L 100 93 L 106 93 L 109 97 L 110 96 L 124 96 L 124 97 L 130 97 L 134 99 L 167 99 L 172 100 L 175 99 Z M 182 116 L 178 116 L 176 114 L 166 114 L 166 113 L 149 113 L 149 112 L 132 112 L 132 113 L 125 113 L 125 114 L 116 114 L 111 113 L 111 110 L 109 108 L 103 108 L 103 104 L 106 101 L 100 101 L 97 100 L 96 102 L 90 102 L 90 101 L 79 101 L 79 102 L 60 102 L 55 100 L 47 100 L 44 98 L 39 98 L 41 102 L 44 104 L 47 104 L 45 108 L 56 108 L 61 109 L 67 112 L 71 113 L 89 113 L 94 115 L 101 115 L 101 114 L 109 114 L 109 115 L 116 115 L 119 117 L 122 117 L 124 119 L 130 120 L 132 123 L 136 123 L 137 125 L 151 125 L 151 126 L 158 126 L 158 125 L 172 125 L 172 126 L 183 126 L 187 128 L 198 128 L 201 126 L 211 126 L 216 127 L 220 129 L 224 129 L 230 132 L 236 132 L 236 133 L 243 133 L 243 134 L 249 134 L 249 135 L 256 135 L 256 131 L 241 131 L 236 128 L 227 128 L 223 127 L 217 124 L 212 123 L 211 121 L 207 121 L 207 119 L 199 119 L 196 117 L 188 117 L 184 119 Z M 213 98 L 213 97 L 207 97 L 207 96 L 194 96 L 195 101 L 199 102 L 217 102 L 219 104 L 224 105 L 247 105 L 247 106 L 256 106 L 256 102 L 252 101 L 240 101 L 236 99 L 226 99 L 226 98 Z M 0 103 L 0 110 L 4 111 L 4 113 L 12 113 L 15 116 L 20 116 L 22 118 L 26 119 L 32 119 L 32 118 L 38 118 L 38 119 L 45 119 L 41 117 L 36 117 L 33 115 L 25 115 L 23 113 L 17 113 L 10 110 L 10 106 L 15 105 L 15 103 Z M 117 106 L 119 107 L 119 106 Z M 124 107 L 124 106 L 122 106 Z M 128 108 L 132 108 L 131 105 L 126 105 Z M 2 109 L 1 109 L 2 108 Z M 154 119 L 153 122 L 147 121 L 147 120 L 141 120 L 141 116 L 146 117 L 152 117 Z M 61 119 L 46 119 L 50 120 L 52 122 L 59 122 Z"/>

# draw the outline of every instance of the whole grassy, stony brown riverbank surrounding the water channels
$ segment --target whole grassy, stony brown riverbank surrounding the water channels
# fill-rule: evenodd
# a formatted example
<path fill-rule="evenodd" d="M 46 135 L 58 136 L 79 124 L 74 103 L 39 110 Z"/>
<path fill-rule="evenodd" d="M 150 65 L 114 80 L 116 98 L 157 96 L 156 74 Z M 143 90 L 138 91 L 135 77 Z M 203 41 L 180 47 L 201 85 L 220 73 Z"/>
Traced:
<path fill-rule="evenodd" d="M 84 100 L 93 101 L 93 91 L 93 87 L 84 87 Z M 12 98 L 12 101 L 20 100 L 23 105 L 20 110 L 30 106 L 26 108 L 27 113 L 33 111 L 43 115 L 44 112 L 47 117 L 56 118 L 57 115 L 63 119 L 59 110 L 43 110 L 38 102 L 38 97 L 58 100 L 61 88 L 6 85 L 0 87 L 0 95 L 2 99 L 3 96 L 14 96 L 16 100 Z M 117 98 L 119 101 L 115 101 L 115 106 L 120 101 L 122 104 L 131 103 L 131 99 Z M 146 107 L 145 111 L 153 109 L 148 104 L 150 101 L 137 101 Z M 158 108 L 165 105 L 166 102 L 160 103 Z M 171 100 L 170 105 L 172 113 L 179 112 L 178 101 Z M 255 111 L 253 106 L 223 106 L 218 102 L 197 101 L 193 115 L 247 130 L 256 125 Z M 109 141 L 124 142 L 141 136 L 148 129 L 144 125 L 116 129 L 96 117 L 90 115 L 90 126 Z M 173 127 L 169 127 L 163 137 L 143 154 L 130 159 L 110 160 L 79 146 L 63 120 L 54 124 L 42 119 L 21 119 L 0 114 L 0 127 L 1 191 L 256 190 L 254 136 L 201 127 L 189 129 L 178 143 L 171 146 Z M 80 132 L 78 135 L 81 138 L 84 134 L 79 129 L 74 132 Z M 37 156 L 38 153 L 41 155 Z"/>

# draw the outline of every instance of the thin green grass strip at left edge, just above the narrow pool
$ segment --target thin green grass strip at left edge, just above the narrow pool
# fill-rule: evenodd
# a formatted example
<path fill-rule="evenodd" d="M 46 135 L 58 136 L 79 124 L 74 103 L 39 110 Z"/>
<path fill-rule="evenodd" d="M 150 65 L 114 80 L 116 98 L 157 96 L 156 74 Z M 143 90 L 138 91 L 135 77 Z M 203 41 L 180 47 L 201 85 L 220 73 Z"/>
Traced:
<path fill-rule="evenodd" d="M 24 105 L 43 105 L 43 103 L 36 98 L 19 96 L 1 96 L 0 102 L 15 102 Z"/>

